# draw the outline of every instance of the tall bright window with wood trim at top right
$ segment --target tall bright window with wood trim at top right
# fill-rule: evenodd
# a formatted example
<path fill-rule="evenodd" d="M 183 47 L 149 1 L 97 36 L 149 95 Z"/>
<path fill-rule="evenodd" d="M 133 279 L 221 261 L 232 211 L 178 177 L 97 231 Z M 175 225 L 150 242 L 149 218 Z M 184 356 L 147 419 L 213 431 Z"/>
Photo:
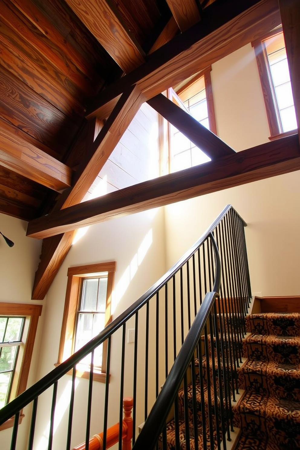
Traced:
<path fill-rule="evenodd" d="M 282 27 L 252 42 L 264 94 L 270 139 L 296 132 L 297 121 Z"/>

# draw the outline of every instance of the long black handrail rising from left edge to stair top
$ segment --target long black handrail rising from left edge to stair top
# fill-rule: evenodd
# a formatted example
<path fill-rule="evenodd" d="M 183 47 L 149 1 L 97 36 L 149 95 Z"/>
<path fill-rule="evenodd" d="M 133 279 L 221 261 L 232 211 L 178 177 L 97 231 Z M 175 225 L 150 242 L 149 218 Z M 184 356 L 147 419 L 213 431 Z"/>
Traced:
<path fill-rule="evenodd" d="M 142 306 L 144 306 L 150 298 L 152 298 L 158 290 L 166 284 L 176 272 L 180 270 L 180 267 L 184 265 L 186 261 L 197 251 L 198 247 L 212 234 L 212 231 L 227 214 L 227 212 L 234 208 L 231 205 L 227 205 L 215 221 L 210 225 L 205 233 L 194 243 L 194 245 L 184 254 L 182 258 L 175 263 L 173 267 L 170 268 L 151 288 L 146 291 L 136 302 L 129 306 L 123 313 L 121 313 L 115 320 L 113 320 L 107 327 L 93 338 L 90 342 L 85 344 L 80 350 L 76 351 L 70 358 L 62 362 L 58 367 L 53 369 L 49 374 L 45 375 L 34 385 L 29 387 L 25 392 L 22 392 L 18 397 L 11 401 L 8 405 L 4 406 L 0 410 L 0 425 L 6 420 L 10 419 L 13 415 L 18 413 L 22 408 L 28 405 L 36 397 L 38 397 L 42 392 L 46 391 L 51 385 L 59 380 L 63 375 L 67 374 L 79 361 L 81 361 L 85 356 L 87 356 L 94 348 L 98 347 L 102 342 L 106 341 L 116 330 L 121 328 L 127 320 L 129 320 L 137 311 L 139 311 Z M 238 213 L 235 211 L 238 215 Z M 239 215 L 238 215 L 239 216 Z M 240 216 L 239 216 L 240 217 Z M 246 223 L 241 218 L 243 224 Z M 219 275 L 220 276 L 220 275 Z"/>

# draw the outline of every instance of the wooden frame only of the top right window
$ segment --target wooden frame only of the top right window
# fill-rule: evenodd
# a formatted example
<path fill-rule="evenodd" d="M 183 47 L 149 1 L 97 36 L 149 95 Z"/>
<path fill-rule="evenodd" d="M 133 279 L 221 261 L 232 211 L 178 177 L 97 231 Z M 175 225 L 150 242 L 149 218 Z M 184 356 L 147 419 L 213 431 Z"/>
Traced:
<path fill-rule="evenodd" d="M 275 36 L 279 33 L 282 33 L 282 26 L 277 27 L 272 31 L 269 31 L 269 33 L 267 33 L 263 37 L 263 39 L 257 39 L 257 40 L 254 40 L 253 42 L 251 42 L 251 45 L 255 52 L 256 63 L 257 63 L 258 72 L 260 75 L 260 84 L 261 84 L 261 89 L 263 91 L 264 104 L 265 104 L 267 119 L 268 119 L 268 123 L 269 123 L 269 130 L 270 130 L 269 139 L 270 140 L 280 139 L 282 137 L 294 135 L 296 133 L 296 130 L 291 130 L 291 131 L 287 131 L 287 132 L 282 132 L 280 130 L 277 112 L 276 112 L 276 108 L 274 105 L 273 93 L 272 93 L 272 89 L 271 89 L 270 81 L 269 81 L 269 74 L 268 74 L 268 69 L 267 69 L 268 62 L 266 61 L 265 52 L 264 52 L 263 45 L 262 45 L 263 40 L 268 39 L 272 36 Z"/>

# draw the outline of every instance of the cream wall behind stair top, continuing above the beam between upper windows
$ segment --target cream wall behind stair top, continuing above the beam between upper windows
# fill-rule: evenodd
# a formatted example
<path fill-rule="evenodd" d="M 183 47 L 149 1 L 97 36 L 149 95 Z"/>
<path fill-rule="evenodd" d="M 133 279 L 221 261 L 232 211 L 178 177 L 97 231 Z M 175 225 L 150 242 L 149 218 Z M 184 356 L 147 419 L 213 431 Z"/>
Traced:
<path fill-rule="evenodd" d="M 211 78 L 219 137 L 237 151 L 268 142 L 269 127 L 251 45 L 213 64 Z M 177 261 L 227 204 L 248 224 L 252 293 L 299 295 L 299 172 L 167 206 L 167 266 Z"/>

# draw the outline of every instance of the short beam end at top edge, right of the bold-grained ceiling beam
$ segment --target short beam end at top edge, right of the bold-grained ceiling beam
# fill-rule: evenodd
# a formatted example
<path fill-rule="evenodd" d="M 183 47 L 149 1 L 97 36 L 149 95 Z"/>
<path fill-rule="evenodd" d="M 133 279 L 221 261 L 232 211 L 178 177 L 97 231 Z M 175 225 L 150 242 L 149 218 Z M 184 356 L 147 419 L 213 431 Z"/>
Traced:
<path fill-rule="evenodd" d="M 167 0 L 167 4 L 180 31 L 186 31 L 199 22 L 200 14 L 195 0 Z"/>

